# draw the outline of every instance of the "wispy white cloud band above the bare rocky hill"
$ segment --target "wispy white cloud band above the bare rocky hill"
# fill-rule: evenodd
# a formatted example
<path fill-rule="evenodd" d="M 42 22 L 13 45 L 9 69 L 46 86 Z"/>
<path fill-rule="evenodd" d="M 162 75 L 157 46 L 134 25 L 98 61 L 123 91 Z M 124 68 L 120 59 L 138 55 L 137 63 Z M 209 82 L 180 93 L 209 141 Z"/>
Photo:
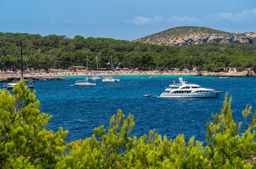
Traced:
<path fill-rule="evenodd" d="M 136 16 L 130 20 L 124 20 L 124 23 L 132 23 L 135 25 L 157 25 L 169 24 L 173 26 L 179 25 L 225 25 L 225 26 L 241 26 L 255 25 L 256 23 L 256 8 L 251 11 L 243 11 L 242 13 L 213 13 L 203 15 L 201 18 L 190 16 L 170 16 L 163 18 L 160 15 L 155 15 L 153 18 Z"/>

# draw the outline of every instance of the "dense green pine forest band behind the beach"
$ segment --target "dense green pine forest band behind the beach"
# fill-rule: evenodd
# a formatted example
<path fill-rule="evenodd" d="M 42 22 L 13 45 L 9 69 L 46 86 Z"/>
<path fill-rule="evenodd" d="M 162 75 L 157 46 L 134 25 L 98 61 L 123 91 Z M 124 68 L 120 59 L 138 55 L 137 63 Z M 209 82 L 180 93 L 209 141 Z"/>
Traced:
<path fill-rule="evenodd" d="M 65 36 L 28 35 L 0 32 L 0 69 L 19 69 L 21 46 L 28 68 L 70 68 L 86 65 L 96 68 L 96 56 L 101 68 L 111 68 L 113 56 L 115 68 L 172 69 L 197 68 L 198 70 L 221 70 L 235 67 L 238 70 L 256 67 L 256 43 L 252 44 L 197 44 L 190 46 L 165 46 L 128 42 L 109 38 L 74 39 Z"/>

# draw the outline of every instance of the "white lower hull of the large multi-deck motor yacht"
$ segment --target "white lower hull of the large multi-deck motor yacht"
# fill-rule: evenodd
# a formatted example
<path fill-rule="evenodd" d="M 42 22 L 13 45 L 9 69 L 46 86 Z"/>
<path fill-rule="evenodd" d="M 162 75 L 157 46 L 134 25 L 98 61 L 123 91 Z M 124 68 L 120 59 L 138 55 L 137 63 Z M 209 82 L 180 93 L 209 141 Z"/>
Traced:
<path fill-rule="evenodd" d="M 173 94 L 169 92 L 163 92 L 159 97 L 161 98 L 216 98 L 223 91 L 206 92 L 206 93 L 190 93 L 190 94 Z"/>

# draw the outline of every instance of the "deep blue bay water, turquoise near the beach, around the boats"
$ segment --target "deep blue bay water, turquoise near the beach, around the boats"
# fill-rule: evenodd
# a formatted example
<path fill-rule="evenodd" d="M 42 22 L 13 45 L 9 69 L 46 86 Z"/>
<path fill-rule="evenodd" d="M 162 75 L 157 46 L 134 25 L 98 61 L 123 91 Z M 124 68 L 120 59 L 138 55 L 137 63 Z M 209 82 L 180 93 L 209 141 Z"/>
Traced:
<path fill-rule="evenodd" d="M 47 130 L 56 132 L 59 127 L 69 130 L 66 142 L 91 137 L 95 127 L 110 124 L 110 118 L 118 109 L 125 117 L 134 115 L 134 130 L 131 136 L 141 137 L 150 130 L 175 139 L 184 134 L 185 140 L 194 136 L 195 140 L 206 143 L 206 123 L 212 121 L 211 113 L 220 113 L 225 94 L 233 95 L 231 109 L 235 122 L 245 120 L 242 111 L 246 105 L 256 110 L 256 77 L 197 77 L 180 76 L 188 83 L 199 84 L 225 91 L 214 99 L 161 99 L 165 87 L 175 80 L 175 75 L 122 75 L 114 76 L 120 82 L 101 82 L 96 87 L 70 86 L 84 76 L 66 77 L 67 80 L 40 80 L 35 82 L 37 99 L 42 113 L 52 115 Z M 3 83 L 4 84 L 4 83 Z M 144 94 L 151 94 L 145 97 Z"/>

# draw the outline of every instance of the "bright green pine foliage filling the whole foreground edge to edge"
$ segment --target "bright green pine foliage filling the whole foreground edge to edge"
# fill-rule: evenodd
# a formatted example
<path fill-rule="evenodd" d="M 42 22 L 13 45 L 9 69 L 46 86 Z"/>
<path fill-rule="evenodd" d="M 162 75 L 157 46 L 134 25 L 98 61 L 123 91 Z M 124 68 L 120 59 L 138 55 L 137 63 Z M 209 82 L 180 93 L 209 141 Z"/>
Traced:
<path fill-rule="evenodd" d="M 231 96 L 232 99 L 232 96 Z M 51 115 L 40 113 L 39 101 L 22 81 L 13 95 L 0 90 L 0 168 L 255 168 L 256 111 L 243 111 L 242 123 L 232 118 L 231 99 L 221 114 L 207 123 L 206 142 L 185 142 L 184 135 L 168 140 L 151 130 L 129 137 L 134 116 L 113 115 L 107 130 L 95 128 L 92 137 L 66 144 L 62 128 L 45 129 Z M 254 160 L 253 160 L 254 159 Z"/>

